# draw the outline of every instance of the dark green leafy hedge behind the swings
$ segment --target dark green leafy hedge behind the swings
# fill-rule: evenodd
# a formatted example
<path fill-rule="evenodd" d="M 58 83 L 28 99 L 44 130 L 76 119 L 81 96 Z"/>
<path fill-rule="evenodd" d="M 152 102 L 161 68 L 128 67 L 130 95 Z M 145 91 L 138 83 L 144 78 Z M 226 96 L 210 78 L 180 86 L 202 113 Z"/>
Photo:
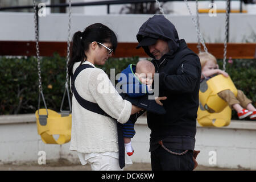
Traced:
<path fill-rule="evenodd" d="M 139 57 L 109 59 L 100 68 L 110 75 L 110 68 L 115 74 L 121 72 L 128 64 L 136 64 Z M 221 60 L 218 61 L 222 68 Z M 59 111 L 65 89 L 66 60 L 55 54 L 53 57 L 42 57 L 42 84 L 47 107 Z M 238 89 L 256 104 L 256 61 L 233 60 L 227 63 L 226 71 L 232 77 Z M 35 57 L 0 57 L 0 114 L 34 113 L 38 109 L 38 71 Z M 40 105 L 42 107 L 43 103 Z M 68 110 L 65 98 L 64 110 Z M 233 113 L 233 119 L 237 119 Z"/>

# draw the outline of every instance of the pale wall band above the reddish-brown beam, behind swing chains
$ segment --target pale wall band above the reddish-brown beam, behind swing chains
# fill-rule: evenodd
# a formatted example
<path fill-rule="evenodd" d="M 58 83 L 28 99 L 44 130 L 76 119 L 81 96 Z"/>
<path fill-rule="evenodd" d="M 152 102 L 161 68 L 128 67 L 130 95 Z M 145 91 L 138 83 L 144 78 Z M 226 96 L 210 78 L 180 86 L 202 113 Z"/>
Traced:
<path fill-rule="evenodd" d="M 119 42 L 137 42 L 139 27 L 152 15 L 81 15 L 72 14 L 72 35 L 83 31 L 90 24 L 101 22 L 114 30 Z M 180 39 L 187 43 L 197 42 L 196 29 L 189 15 L 167 15 L 175 24 Z M 34 41 L 34 14 L 32 13 L 0 13 L 0 40 Z M 225 15 L 210 17 L 200 15 L 200 29 L 206 42 L 224 42 Z M 256 42 L 256 14 L 230 15 L 230 42 Z M 68 15 L 49 14 L 40 17 L 40 41 L 67 41 Z"/>

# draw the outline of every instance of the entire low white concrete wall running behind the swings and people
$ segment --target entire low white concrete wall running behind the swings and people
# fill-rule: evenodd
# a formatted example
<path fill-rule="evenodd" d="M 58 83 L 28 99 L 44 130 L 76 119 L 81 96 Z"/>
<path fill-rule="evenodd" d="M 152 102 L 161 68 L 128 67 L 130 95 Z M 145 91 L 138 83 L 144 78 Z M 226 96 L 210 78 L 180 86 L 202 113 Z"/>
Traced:
<path fill-rule="evenodd" d="M 133 162 L 150 163 L 150 129 L 146 118 L 139 118 L 135 125 Z M 211 167 L 256 169 L 256 122 L 231 121 L 228 127 L 197 126 L 195 150 L 199 164 Z M 38 161 L 38 152 L 45 151 L 46 159 L 65 158 L 79 162 L 69 144 L 44 144 L 37 133 L 35 115 L 0 116 L 0 164 Z M 210 151 L 216 152 L 216 164 L 209 163 Z"/>

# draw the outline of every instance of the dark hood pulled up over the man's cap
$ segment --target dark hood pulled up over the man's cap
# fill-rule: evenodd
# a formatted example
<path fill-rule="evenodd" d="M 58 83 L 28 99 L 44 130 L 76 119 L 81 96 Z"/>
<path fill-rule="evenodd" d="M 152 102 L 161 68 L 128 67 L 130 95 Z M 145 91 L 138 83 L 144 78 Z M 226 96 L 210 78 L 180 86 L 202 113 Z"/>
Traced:
<path fill-rule="evenodd" d="M 147 37 L 167 40 L 171 55 L 179 48 L 180 40 L 177 30 L 174 24 L 172 24 L 163 15 L 154 15 L 144 22 L 141 28 L 139 28 L 139 32 L 136 37 L 139 42 L 137 47 L 142 46 L 147 55 L 153 58 L 155 57 L 150 53 L 148 46 L 140 45 L 141 42 L 144 41 L 143 39 Z"/>

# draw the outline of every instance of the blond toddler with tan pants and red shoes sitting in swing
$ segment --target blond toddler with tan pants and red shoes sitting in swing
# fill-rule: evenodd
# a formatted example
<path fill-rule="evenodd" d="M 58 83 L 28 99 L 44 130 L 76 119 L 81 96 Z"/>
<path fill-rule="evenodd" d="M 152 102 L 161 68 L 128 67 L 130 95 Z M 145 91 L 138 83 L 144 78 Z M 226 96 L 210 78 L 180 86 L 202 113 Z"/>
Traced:
<path fill-rule="evenodd" d="M 201 82 L 209 80 L 209 78 L 222 74 L 225 77 L 228 77 L 228 73 L 218 69 L 218 64 L 216 57 L 207 52 L 199 53 L 199 58 L 201 62 Z M 231 109 L 237 111 L 237 115 L 239 119 L 243 119 L 250 116 L 250 119 L 256 119 L 256 109 L 251 104 L 251 100 L 249 100 L 242 90 L 237 89 L 237 96 L 234 95 L 230 90 L 223 90 L 218 93 L 218 96 L 222 98 L 224 101 L 228 102 L 228 105 Z"/>

